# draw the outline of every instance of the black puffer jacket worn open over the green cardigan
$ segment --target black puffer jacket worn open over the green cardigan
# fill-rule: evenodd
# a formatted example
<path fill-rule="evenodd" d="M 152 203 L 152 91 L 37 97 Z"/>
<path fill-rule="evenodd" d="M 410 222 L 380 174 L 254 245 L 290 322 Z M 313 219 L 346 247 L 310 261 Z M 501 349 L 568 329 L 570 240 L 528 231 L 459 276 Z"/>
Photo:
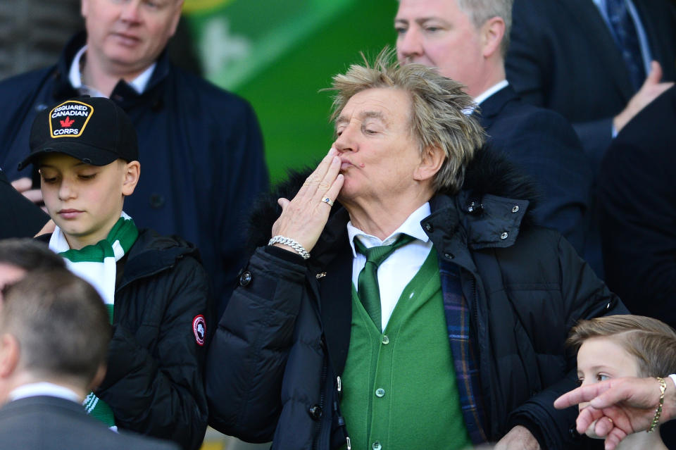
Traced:
<path fill-rule="evenodd" d="M 571 449 L 580 444 L 569 432 L 576 410 L 552 405 L 576 386 L 565 337 L 580 318 L 627 311 L 558 232 L 528 223 L 530 193 L 511 166 L 482 152 L 463 191 L 434 196 L 421 224 L 439 258 L 462 268 L 490 439 L 525 425 L 543 449 Z M 242 273 L 208 354 L 207 398 L 218 430 L 274 439 L 273 449 L 345 444 L 338 399 L 352 266 L 348 215 L 334 209 L 308 263 L 263 246 Z M 267 216 L 269 226 L 277 214 L 273 208 L 256 220 Z M 263 230 L 261 243 L 270 237 Z"/>

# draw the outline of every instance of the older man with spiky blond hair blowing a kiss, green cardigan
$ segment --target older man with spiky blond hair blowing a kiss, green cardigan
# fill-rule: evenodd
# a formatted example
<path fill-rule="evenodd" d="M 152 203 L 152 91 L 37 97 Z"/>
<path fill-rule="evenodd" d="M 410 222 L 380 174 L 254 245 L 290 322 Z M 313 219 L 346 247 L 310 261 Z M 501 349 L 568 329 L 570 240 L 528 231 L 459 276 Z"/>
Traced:
<path fill-rule="evenodd" d="M 327 156 L 253 218 L 211 424 L 273 449 L 572 448 L 575 411 L 552 405 L 576 382 L 565 337 L 624 306 L 532 225 L 457 82 L 384 53 L 333 89 Z"/>

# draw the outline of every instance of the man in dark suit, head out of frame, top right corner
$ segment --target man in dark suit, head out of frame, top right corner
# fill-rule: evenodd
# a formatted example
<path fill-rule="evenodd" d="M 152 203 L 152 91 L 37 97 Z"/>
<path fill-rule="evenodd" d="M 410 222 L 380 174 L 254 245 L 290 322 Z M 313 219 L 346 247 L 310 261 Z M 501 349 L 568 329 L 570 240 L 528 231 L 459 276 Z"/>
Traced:
<path fill-rule="evenodd" d="M 673 4 L 627 0 L 620 13 L 608 9 L 615 1 L 515 0 L 506 58 L 516 92 L 570 120 L 596 169 L 613 136 L 676 79 Z"/>

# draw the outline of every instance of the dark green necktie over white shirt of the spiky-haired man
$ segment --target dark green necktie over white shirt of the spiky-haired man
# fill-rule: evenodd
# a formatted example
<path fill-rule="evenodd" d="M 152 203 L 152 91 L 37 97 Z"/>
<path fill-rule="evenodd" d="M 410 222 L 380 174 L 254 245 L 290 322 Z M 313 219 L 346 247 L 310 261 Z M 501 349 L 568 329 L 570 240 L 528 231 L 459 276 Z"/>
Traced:
<path fill-rule="evenodd" d="M 358 292 L 357 295 L 363 304 L 364 309 L 370 316 L 371 320 L 381 330 L 382 321 L 380 319 L 380 287 L 378 287 L 378 267 L 393 251 L 399 247 L 408 244 L 415 240 L 415 237 L 408 235 L 399 235 L 393 244 L 380 245 L 367 249 L 359 239 L 354 239 L 354 248 L 359 253 L 366 256 L 366 263 L 364 268 L 359 273 L 357 279 Z"/>

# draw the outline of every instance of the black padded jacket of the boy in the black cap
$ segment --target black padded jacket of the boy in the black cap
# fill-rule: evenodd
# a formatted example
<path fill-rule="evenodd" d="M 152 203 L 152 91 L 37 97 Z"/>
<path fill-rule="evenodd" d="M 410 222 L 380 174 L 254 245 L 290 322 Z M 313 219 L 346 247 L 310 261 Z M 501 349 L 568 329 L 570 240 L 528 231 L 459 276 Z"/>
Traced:
<path fill-rule="evenodd" d="M 108 372 L 96 394 L 118 427 L 198 449 L 208 415 L 206 342 L 198 343 L 193 323 L 211 307 L 199 254 L 180 238 L 141 230 L 121 261 Z"/>

